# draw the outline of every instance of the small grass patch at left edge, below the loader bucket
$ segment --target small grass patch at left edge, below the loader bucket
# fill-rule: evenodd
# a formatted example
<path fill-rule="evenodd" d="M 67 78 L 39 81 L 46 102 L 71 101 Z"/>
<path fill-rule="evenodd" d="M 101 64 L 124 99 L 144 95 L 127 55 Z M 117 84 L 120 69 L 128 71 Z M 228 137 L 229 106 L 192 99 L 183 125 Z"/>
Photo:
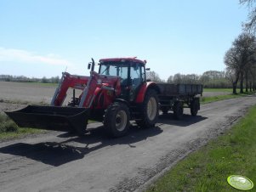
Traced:
<path fill-rule="evenodd" d="M 20 138 L 27 134 L 44 133 L 36 128 L 20 128 L 5 114 L 0 114 L 0 139 Z"/>

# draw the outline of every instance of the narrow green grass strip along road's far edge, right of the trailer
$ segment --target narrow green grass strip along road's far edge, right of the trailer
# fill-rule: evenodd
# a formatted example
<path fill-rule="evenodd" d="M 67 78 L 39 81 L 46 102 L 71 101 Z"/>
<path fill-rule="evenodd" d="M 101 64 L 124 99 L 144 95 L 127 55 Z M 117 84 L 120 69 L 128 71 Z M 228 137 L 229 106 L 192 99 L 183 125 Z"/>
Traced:
<path fill-rule="evenodd" d="M 216 95 L 216 96 L 213 96 L 213 97 L 202 97 L 200 102 L 201 102 L 201 104 L 207 104 L 207 103 L 211 103 L 211 102 L 219 101 L 219 100 L 245 97 L 245 96 L 251 95 L 253 93 L 255 93 L 255 92 Z"/>

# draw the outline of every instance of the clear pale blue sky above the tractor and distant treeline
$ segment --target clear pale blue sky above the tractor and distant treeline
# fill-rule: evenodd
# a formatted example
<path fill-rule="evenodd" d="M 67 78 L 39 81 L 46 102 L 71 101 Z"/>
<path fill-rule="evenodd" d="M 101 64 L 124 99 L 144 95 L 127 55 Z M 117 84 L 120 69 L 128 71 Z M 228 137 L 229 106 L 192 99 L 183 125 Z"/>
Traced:
<path fill-rule="evenodd" d="M 162 79 L 224 71 L 238 0 L 0 0 L 0 74 L 88 75 L 90 58 L 138 57 Z"/>

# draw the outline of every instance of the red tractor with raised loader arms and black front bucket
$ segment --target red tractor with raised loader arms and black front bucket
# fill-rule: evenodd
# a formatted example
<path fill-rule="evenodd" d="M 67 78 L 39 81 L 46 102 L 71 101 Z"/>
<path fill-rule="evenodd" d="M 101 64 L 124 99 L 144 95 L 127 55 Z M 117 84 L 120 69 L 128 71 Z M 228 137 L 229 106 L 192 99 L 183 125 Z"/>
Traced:
<path fill-rule="evenodd" d="M 94 59 L 89 63 L 90 76 L 64 72 L 51 106 L 29 105 L 6 112 L 20 127 L 86 133 L 88 119 L 103 121 L 108 133 L 120 137 L 128 132 L 129 121 L 139 127 L 154 127 L 158 117 L 159 87 L 145 78 L 145 61 L 136 58 L 100 59 L 99 72 Z M 66 92 L 74 89 L 68 106 L 62 107 Z M 75 97 L 75 89 L 82 90 Z"/>

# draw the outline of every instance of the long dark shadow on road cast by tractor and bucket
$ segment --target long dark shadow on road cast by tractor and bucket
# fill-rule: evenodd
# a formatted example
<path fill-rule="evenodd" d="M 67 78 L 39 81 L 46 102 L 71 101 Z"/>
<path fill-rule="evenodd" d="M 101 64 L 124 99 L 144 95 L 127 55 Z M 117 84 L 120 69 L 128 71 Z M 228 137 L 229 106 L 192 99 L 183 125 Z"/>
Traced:
<path fill-rule="evenodd" d="M 95 150 L 100 150 L 105 146 L 128 144 L 131 148 L 135 148 L 136 146 L 134 143 L 160 133 L 162 133 L 160 127 L 139 129 L 138 127 L 132 126 L 128 136 L 122 138 L 109 138 L 105 133 L 104 127 L 97 127 L 92 128 L 83 137 L 63 133 L 59 135 L 62 140 L 64 139 L 62 142 L 11 144 L 0 148 L 0 153 L 25 156 L 26 158 L 40 161 L 44 164 L 59 167 L 65 163 L 82 159 L 84 155 Z"/>

